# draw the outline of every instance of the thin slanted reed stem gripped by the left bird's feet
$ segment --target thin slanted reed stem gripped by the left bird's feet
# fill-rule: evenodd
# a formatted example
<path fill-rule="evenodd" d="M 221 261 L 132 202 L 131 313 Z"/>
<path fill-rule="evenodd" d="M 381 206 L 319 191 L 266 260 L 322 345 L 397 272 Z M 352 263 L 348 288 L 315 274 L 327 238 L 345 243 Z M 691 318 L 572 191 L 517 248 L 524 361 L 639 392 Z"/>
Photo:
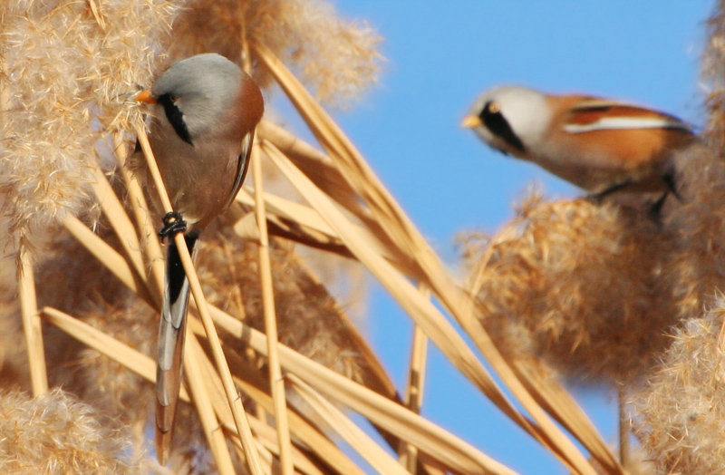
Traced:
<path fill-rule="evenodd" d="M 161 179 L 159 167 L 156 164 L 153 152 L 151 151 L 149 138 L 146 135 L 143 124 L 136 124 L 135 129 L 141 150 L 143 150 L 154 184 L 159 192 L 164 212 L 168 213 L 172 211 L 173 208 L 171 207 L 171 201 L 169 200 L 166 188 L 164 187 L 163 179 Z M 198 276 L 196 270 L 194 269 L 194 263 L 189 255 L 189 247 L 187 247 L 184 236 L 181 233 L 177 233 L 174 236 L 174 242 L 179 248 L 179 257 L 181 259 L 181 264 L 184 267 L 184 272 L 189 279 L 191 295 L 194 296 L 194 300 L 196 301 L 198 314 L 201 317 L 201 322 L 204 325 L 204 330 L 207 333 L 208 341 L 211 346 L 211 353 L 214 356 L 218 372 L 221 375 L 224 392 L 227 394 L 227 402 L 229 403 L 229 408 L 231 409 L 232 416 L 234 417 L 234 422 L 237 425 L 239 438 L 241 439 L 242 446 L 244 447 L 247 468 L 253 475 L 263 475 L 264 470 L 262 469 L 259 455 L 256 452 L 254 436 L 252 435 L 252 431 L 249 428 L 249 422 L 247 421 L 247 413 L 244 410 L 242 400 L 237 393 L 237 388 L 235 387 L 231 373 L 229 372 L 229 365 L 227 364 L 227 359 L 224 356 L 224 350 L 221 348 L 221 342 L 219 340 L 217 330 L 214 327 L 214 322 L 211 319 L 211 315 L 209 315 L 207 300 L 204 298 L 201 284 L 198 281 Z"/>

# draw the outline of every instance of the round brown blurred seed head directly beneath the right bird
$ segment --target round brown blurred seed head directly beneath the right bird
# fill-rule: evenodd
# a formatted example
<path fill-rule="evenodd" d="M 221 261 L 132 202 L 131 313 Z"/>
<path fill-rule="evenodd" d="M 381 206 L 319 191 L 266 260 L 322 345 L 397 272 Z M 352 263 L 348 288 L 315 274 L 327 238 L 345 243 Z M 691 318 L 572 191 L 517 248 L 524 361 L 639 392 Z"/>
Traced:
<path fill-rule="evenodd" d="M 659 276 L 672 238 L 623 208 L 528 198 L 491 239 L 469 235 L 476 298 L 508 358 L 543 358 L 581 382 L 626 382 L 654 363 L 676 323 Z"/>

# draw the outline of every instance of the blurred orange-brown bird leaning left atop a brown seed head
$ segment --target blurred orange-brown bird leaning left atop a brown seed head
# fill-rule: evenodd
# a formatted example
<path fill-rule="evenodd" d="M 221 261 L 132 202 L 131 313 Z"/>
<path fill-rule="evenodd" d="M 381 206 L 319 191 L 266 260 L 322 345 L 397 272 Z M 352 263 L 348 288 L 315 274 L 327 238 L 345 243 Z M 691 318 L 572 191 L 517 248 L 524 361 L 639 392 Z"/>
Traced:
<path fill-rule="evenodd" d="M 672 115 L 627 102 L 501 86 L 461 123 L 489 146 L 533 161 L 601 199 L 617 190 L 677 196 L 672 151 L 695 140 Z"/>

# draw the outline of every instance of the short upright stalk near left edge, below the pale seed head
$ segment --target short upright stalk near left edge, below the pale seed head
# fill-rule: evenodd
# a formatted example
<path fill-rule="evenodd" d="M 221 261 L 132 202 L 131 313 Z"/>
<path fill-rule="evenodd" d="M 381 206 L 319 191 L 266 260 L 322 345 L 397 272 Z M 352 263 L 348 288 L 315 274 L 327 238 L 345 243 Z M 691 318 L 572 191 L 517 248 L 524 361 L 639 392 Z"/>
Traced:
<path fill-rule="evenodd" d="M 35 276 L 33 257 L 26 244 L 18 249 L 18 296 L 20 311 L 23 315 L 23 331 L 28 352 L 30 381 L 34 397 L 48 393 L 48 374 L 45 369 L 45 349 L 43 348 L 43 326 L 38 315 L 38 300 L 35 294 Z"/>

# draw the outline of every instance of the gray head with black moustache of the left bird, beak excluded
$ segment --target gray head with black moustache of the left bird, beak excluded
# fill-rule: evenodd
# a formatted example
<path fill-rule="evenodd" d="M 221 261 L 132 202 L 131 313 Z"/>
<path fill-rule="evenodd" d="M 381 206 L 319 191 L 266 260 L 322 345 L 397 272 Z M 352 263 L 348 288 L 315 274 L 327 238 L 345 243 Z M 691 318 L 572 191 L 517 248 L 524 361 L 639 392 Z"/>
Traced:
<path fill-rule="evenodd" d="M 193 145 L 195 137 L 218 121 L 219 112 L 234 103 L 242 74 L 224 56 L 198 54 L 171 65 L 153 83 L 151 95 L 179 137 Z"/>

